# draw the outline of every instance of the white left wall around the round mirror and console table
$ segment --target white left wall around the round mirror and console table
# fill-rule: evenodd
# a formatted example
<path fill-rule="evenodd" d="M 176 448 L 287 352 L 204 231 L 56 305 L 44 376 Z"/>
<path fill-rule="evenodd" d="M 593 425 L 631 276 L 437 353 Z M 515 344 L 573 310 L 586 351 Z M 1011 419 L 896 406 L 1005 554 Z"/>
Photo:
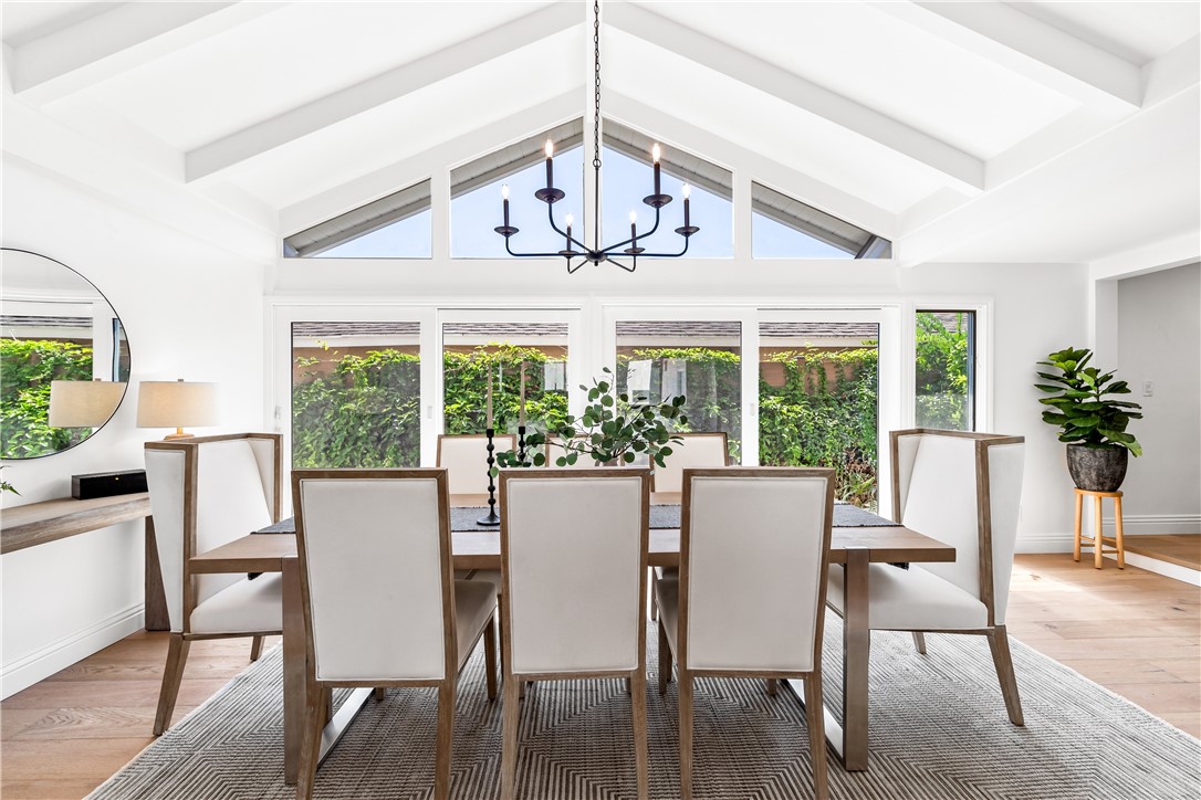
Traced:
<path fill-rule="evenodd" d="M 76 269 L 108 297 L 130 339 L 132 380 L 115 417 L 82 445 L 5 462 L 20 498 L 70 497 L 71 475 L 139 469 L 137 383 L 184 377 L 220 384 L 221 428 L 262 426 L 263 266 L 150 222 L 26 162 L 4 160 L 5 247 Z M 214 429 L 215 432 L 216 429 Z M 4 697 L 142 626 L 141 523 L 114 525 L 0 557 Z"/>

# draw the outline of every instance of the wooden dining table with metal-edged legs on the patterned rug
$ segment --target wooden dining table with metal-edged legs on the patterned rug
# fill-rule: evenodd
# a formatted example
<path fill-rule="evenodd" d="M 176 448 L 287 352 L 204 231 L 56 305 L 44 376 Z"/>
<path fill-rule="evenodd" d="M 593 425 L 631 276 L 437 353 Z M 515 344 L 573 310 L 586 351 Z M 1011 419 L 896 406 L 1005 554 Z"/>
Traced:
<path fill-rule="evenodd" d="M 453 506 L 483 506 L 486 495 L 452 495 Z M 652 494 L 653 505 L 679 505 L 676 493 Z M 498 570 L 501 542 L 497 528 L 452 533 L 456 570 Z M 955 548 L 902 525 L 833 528 L 830 564 L 846 570 L 842 669 L 843 697 L 839 724 L 825 709 L 826 739 L 848 770 L 867 769 L 867 670 L 871 657 L 871 630 L 867 602 L 871 564 L 954 561 Z M 679 529 L 650 530 L 651 566 L 679 566 Z M 300 763 L 307 685 L 304 613 L 300 604 L 300 576 L 294 534 L 247 534 L 191 559 L 193 573 L 281 572 L 283 576 L 283 778 L 295 783 Z M 800 681 L 796 696 L 803 697 Z M 349 727 L 370 697 L 370 688 L 357 688 L 333 715 L 322 736 L 322 758 Z"/>

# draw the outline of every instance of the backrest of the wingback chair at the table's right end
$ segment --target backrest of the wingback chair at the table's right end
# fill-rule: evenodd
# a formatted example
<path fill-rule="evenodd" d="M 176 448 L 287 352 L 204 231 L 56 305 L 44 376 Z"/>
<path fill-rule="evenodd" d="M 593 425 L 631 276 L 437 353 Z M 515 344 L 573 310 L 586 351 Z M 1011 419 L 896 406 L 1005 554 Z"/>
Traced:
<path fill-rule="evenodd" d="M 979 597 L 1003 625 L 1017 543 L 1026 440 L 992 433 L 891 432 L 892 518 L 955 547 L 955 561 L 924 564 Z"/>

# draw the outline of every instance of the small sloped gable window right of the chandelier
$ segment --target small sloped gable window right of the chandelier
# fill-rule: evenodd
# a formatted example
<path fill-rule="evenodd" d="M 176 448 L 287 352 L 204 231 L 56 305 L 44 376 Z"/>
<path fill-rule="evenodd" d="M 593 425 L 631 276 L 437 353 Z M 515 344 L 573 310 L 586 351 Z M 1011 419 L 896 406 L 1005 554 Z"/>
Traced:
<path fill-rule="evenodd" d="M 892 242 L 820 209 L 751 185 L 754 258 L 891 258 Z"/>

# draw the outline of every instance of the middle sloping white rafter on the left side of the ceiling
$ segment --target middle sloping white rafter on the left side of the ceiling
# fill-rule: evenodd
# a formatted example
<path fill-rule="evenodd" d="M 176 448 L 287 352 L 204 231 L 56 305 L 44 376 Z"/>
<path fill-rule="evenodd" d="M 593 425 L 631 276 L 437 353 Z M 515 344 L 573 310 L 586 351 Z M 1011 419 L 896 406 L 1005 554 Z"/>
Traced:
<path fill-rule="evenodd" d="M 187 182 L 197 181 L 351 119 L 419 89 L 540 42 L 580 24 L 572 4 L 552 4 L 484 34 L 401 65 L 191 150 Z"/>

